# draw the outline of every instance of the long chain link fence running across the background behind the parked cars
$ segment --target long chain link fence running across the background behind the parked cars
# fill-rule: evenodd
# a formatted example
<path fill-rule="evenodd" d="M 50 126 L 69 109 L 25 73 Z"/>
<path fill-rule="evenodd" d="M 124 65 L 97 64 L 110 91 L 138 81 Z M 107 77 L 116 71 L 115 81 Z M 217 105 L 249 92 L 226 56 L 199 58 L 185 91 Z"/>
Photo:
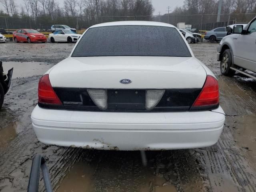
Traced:
<path fill-rule="evenodd" d="M 65 24 L 78 31 L 103 22 L 113 21 L 157 21 L 177 25 L 178 22 L 191 24 L 192 28 L 198 30 L 212 30 L 217 27 L 228 26 L 230 24 L 246 24 L 252 20 L 256 14 L 221 14 L 220 22 L 216 22 L 217 14 L 207 15 L 163 15 L 163 16 L 80 16 L 80 17 L 0 17 L 0 29 L 13 31 L 19 28 L 32 28 L 41 32 L 50 32 L 50 27 L 55 24 Z"/>

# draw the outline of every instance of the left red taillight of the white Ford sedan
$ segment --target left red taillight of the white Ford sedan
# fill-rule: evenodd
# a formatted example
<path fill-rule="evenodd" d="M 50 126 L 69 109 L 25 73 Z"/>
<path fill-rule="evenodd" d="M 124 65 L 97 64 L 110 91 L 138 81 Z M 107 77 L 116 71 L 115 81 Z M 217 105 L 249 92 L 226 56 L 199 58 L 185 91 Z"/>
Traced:
<path fill-rule="evenodd" d="M 39 80 L 38 102 L 44 103 L 44 104 L 55 104 L 55 105 L 62 104 L 52 88 L 48 74 L 42 76 Z"/>

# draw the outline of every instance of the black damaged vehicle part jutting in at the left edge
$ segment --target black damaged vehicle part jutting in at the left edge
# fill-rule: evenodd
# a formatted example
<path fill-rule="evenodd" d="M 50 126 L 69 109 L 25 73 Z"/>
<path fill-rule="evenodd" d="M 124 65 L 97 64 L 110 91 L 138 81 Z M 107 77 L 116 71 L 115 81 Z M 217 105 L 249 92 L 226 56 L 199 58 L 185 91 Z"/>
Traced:
<path fill-rule="evenodd" d="M 13 68 L 7 74 L 4 73 L 2 61 L 0 61 L 0 108 L 4 103 L 4 95 L 8 92 L 12 80 Z"/>

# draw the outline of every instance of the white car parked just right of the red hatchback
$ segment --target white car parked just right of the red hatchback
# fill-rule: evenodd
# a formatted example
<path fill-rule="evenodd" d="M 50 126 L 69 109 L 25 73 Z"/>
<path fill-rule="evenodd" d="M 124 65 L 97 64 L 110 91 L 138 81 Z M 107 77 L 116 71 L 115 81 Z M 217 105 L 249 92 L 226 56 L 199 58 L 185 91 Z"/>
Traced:
<path fill-rule="evenodd" d="M 48 39 L 54 43 L 54 42 L 77 42 L 80 38 L 80 34 L 76 34 L 75 32 L 71 30 L 61 30 L 56 31 L 54 33 L 49 34 Z"/>

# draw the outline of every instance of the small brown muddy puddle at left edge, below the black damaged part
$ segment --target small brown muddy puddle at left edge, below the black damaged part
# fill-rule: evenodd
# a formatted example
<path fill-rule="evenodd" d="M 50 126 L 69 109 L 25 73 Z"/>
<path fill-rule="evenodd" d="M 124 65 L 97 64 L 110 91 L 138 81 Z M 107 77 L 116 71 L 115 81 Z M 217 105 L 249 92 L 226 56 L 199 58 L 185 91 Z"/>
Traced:
<path fill-rule="evenodd" d="M 0 147 L 5 146 L 17 136 L 17 126 L 17 122 L 11 122 L 7 126 L 0 129 Z"/>

